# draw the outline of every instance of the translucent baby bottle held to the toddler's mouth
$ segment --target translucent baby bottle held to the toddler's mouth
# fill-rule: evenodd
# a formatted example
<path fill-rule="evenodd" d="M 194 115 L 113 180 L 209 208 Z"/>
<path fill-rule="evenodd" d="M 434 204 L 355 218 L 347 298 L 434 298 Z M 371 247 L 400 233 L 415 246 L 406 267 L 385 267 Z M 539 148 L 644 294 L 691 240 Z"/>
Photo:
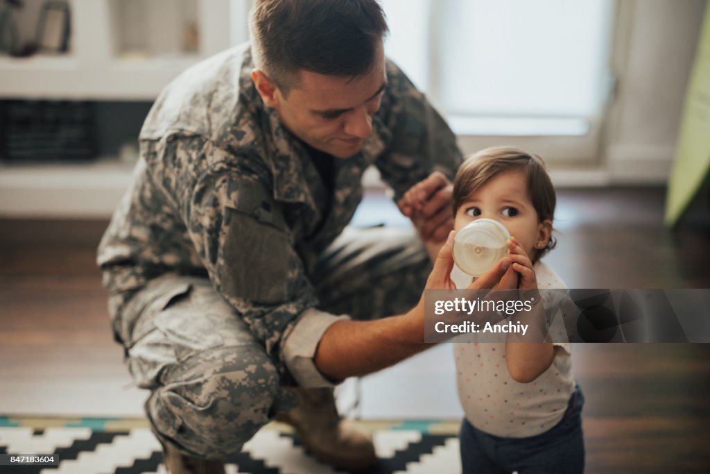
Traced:
<path fill-rule="evenodd" d="M 471 276 L 481 276 L 508 253 L 508 229 L 493 219 L 476 219 L 454 237 L 452 253 L 457 266 Z"/>

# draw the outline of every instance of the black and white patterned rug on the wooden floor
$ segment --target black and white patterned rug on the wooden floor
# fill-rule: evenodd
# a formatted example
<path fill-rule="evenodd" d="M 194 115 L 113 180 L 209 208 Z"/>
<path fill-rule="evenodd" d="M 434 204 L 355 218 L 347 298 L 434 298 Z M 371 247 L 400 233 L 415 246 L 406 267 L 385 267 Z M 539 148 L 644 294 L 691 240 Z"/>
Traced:
<path fill-rule="evenodd" d="M 368 473 L 461 472 L 458 421 L 359 421 L 373 433 L 378 464 Z M 144 419 L 0 416 L 0 454 L 54 454 L 56 466 L 0 465 L 0 473 L 165 473 L 160 444 Z M 226 472 L 339 473 L 304 451 L 289 426 L 272 423 L 227 460 Z"/>

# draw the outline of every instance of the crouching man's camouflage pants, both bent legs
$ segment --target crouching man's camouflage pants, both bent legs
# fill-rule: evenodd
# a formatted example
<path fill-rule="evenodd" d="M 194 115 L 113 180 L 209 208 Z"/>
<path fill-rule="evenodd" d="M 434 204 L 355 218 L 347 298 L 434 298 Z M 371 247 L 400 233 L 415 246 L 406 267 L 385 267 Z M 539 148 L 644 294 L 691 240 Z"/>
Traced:
<path fill-rule="evenodd" d="M 319 256 L 313 279 L 323 311 L 356 319 L 407 311 L 430 272 L 411 230 L 348 228 Z M 121 311 L 134 318 L 127 363 L 151 389 L 146 414 L 161 441 L 224 458 L 279 411 L 293 407 L 273 360 L 209 280 L 166 275 Z"/>

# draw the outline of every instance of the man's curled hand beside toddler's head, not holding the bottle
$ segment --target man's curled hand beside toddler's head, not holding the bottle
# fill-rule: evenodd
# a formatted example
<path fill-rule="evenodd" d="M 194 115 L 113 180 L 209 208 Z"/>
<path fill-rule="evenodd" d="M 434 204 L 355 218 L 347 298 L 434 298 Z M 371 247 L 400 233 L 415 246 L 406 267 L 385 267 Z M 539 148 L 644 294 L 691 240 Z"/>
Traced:
<path fill-rule="evenodd" d="M 413 185 L 397 203 L 412 220 L 424 242 L 442 244 L 454 228 L 452 185 L 444 173 L 435 171 Z"/>

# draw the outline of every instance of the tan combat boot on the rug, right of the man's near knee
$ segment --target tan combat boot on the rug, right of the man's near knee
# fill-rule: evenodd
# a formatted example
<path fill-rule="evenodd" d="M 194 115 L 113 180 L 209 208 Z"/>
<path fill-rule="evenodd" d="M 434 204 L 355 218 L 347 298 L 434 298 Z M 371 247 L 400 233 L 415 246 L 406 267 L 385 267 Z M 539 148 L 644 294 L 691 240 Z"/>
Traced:
<path fill-rule="evenodd" d="M 278 414 L 277 421 L 290 424 L 303 446 L 315 458 L 344 470 L 362 470 L 377 458 L 372 438 L 341 419 L 332 389 L 293 389 L 298 406 Z"/>

